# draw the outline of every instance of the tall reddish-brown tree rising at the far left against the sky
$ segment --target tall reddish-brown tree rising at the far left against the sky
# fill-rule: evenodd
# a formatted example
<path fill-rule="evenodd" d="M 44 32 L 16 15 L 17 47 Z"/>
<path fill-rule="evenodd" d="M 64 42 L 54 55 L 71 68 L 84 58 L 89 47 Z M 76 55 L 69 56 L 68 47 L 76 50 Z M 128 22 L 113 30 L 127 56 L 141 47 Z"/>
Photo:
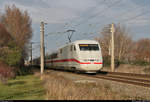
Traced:
<path fill-rule="evenodd" d="M 23 60 L 27 57 L 27 45 L 32 37 L 31 19 L 27 11 L 21 11 L 15 5 L 6 6 L 0 20 L 17 46 L 22 49 Z"/>

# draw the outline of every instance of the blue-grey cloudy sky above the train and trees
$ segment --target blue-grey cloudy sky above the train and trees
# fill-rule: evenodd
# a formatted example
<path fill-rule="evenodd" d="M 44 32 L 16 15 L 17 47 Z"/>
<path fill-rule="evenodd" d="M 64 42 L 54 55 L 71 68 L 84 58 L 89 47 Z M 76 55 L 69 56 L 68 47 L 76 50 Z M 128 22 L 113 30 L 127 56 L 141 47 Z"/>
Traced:
<path fill-rule="evenodd" d="M 41 21 L 46 53 L 68 42 L 67 30 L 75 30 L 72 41 L 94 39 L 111 23 L 126 26 L 134 40 L 150 38 L 150 0 L 0 0 L 0 13 L 13 4 L 32 19 L 33 58 L 40 56 Z"/>

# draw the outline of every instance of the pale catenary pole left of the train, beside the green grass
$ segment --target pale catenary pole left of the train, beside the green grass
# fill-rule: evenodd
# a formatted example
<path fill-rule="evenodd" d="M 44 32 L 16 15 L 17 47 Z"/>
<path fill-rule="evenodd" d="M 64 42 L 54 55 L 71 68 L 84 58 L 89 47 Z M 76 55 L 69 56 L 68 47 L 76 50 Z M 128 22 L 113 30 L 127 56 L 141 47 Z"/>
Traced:
<path fill-rule="evenodd" d="M 44 72 L 44 22 L 41 22 L 41 75 Z"/>

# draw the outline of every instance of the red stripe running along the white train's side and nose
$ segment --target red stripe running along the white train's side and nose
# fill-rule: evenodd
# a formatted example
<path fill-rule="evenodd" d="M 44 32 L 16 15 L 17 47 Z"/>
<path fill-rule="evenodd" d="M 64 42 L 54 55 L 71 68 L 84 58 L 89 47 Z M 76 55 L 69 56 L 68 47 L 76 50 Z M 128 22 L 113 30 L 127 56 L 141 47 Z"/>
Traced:
<path fill-rule="evenodd" d="M 80 62 L 76 59 L 62 59 L 62 60 L 52 60 L 52 61 L 46 61 L 46 63 L 52 63 L 52 62 L 77 62 L 80 64 L 91 64 L 90 62 Z M 102 64 L 101 62 L 94 62 L 93 64 Z"/>

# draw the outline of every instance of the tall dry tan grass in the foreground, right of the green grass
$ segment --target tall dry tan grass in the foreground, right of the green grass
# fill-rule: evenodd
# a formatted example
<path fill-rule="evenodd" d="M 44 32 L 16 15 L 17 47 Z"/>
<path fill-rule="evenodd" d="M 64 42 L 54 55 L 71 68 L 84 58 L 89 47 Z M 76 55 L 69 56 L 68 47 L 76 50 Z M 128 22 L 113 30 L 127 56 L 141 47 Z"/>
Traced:
<path fill-rule="evenodd" d="M 128 96 L 121 96 L 112 92 L 110 85 L 97 83 L 77 83 L 51 73 L 43 76 L 47 100 L 125 100 Z M 127 98 L 128 97 L 128 98 Z"/>

